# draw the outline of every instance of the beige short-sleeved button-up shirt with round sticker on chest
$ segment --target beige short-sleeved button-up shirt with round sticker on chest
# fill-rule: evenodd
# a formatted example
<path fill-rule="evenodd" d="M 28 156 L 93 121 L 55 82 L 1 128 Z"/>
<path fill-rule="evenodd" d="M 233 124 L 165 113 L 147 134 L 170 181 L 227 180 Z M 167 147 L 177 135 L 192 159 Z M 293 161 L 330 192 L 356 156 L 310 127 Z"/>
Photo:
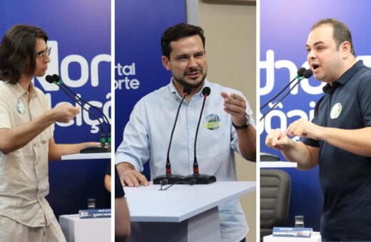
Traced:
<path fill-rule="evenodd" d="M 0 81 L 0 128 L 22 125 L 49 109 L 46 96 L 33 83 L 28 92 L 18 83 Z M 0 152 L 0 215 L 31 227 L 51 222 L 54 213 L 45 196 L 49 194 L 48 150 L 53 132 L 51 125 L 21 149 Z"/>

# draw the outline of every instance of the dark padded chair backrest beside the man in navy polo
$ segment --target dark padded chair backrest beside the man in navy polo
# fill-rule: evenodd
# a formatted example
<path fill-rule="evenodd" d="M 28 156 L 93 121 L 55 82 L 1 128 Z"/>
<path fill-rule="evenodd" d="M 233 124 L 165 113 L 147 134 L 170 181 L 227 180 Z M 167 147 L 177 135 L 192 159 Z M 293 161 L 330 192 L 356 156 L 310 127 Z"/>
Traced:
<path fill-rule="evenodd" d="M 290 205 L 290 175 L 280 169 L 260 169 L 260 241 L 273 227 L 286 226 Z"/>

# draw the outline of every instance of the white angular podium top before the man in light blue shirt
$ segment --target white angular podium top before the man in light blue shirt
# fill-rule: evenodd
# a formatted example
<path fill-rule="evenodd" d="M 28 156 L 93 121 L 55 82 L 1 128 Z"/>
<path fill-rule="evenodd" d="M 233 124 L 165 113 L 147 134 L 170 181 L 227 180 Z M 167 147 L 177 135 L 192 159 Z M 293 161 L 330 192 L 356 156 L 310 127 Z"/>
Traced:
<path fill-rule="evenodd" d="M 168 185 L 167 185 L 168 186 Z M 231 199 L 255 191 L 255 181 L 216 181 L 212 184 L 176 184 L 124 187 L 133 222 L 181 222 Z M 166 187 L 166 186 L 163 186 Z"/>

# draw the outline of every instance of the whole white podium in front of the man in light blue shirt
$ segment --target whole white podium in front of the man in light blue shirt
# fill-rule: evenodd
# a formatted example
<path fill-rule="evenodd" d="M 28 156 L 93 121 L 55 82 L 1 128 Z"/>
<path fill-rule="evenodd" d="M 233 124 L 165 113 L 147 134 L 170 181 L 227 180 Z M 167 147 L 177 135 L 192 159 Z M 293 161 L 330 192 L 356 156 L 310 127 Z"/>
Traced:
<path fill-rule="evenodd" d="M 165 186 L 166 187 L 166 186 Z M 255 181 L 125 186 L 131 215 L 129 241 L 220 241 L 218 205 L 255 191 Z"/>

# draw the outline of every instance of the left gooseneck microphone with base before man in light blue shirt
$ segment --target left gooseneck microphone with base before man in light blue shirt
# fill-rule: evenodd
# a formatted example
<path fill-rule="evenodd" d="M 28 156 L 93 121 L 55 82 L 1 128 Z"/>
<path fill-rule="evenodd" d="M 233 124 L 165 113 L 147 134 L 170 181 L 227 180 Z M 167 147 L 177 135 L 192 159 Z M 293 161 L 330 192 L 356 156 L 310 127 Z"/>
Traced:
<path fill-rule="evenodd" d="M 174 183 L 180 181 L 181 178 L 183 177 L 183 176 L 178 175 L 178 174 L 171 174 L 170 147 L 171 147 L 171 142 L 173 141 L 174 130 L 176 129 L 176 122 L 178 120 L 179 110 L 181 110 L 182 103 L 183 103 L 185 97 L 190 94 L 191 90 L 192 90 L 192 88 L 190 88 L 189 85 L 184 86 L 183 98 L 181 100 L 181 103 L 179 103 L 178 111 L 176 112 L 176 120 L 174 121 L 173 130 L 171 130 L 170 141 L 169 141 L 169 145 L 168 145 L 168 155 L 166 157 L 166 173 L 165 173 L 165 175 L 155 177 L 153 179 L 153 184 L 161 184 L 161 185 L 174 184 Z"/>

